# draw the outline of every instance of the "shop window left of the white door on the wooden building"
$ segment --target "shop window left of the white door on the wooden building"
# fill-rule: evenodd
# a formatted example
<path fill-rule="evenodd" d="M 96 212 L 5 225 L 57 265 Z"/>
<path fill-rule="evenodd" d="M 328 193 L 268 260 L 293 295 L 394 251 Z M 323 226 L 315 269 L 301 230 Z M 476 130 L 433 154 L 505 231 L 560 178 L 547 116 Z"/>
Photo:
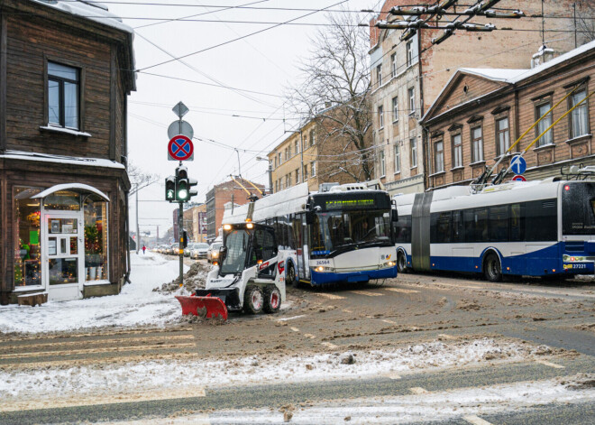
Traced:
<path fill-rule="evenodd" d="M 41 285 L 39 188 L 14 188 L 14 287 Z"/>

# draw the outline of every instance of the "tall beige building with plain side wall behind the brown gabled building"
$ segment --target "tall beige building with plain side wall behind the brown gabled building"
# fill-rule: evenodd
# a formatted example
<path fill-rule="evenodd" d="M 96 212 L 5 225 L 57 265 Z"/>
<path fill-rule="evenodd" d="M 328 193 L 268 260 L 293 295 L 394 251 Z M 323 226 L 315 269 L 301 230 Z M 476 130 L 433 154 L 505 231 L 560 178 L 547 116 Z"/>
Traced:
<path fill-rule="evenodd" d="M 429 1 L 418 3 L 434 4 Z M 547 15 L 569 16 L 573 3 L 577 3 L 577 10 L 581 11 L 581 2 L 574 0 L 546 2 L 544 11 Z M 370 23 L 371 110 L 374 115 L 373 143 L 377 146 L 375 175 L 391 193 L 412 193 L 425 189 L 427 165 L 428 139 L 418 120 L 426 114 L 444 84 L 462 66 L 526 68 L 532 55 L 543 44 L 539 31 L 542 21 L 536 18 L 494 20 L 497 28 L 510 27 L 517 31 L 456 31 L 450 39 L 436 45 L 431 41 L 442 31 L 422 29 L 409 41 L 400 42 L 402 31 L 380 30 L 374 26 L 378 21 L 386 20 L 390 8 L 398 5 L 410 5 L 410 2 L 387 0 L 381 13 Z M 540 15 L 542 2 L 502 0 L 498 7 Z M 490 20 L 474 17 L 472 22 L 490 23 Z M 574 37 L 561 36 L 557 29 L 572 29 L 572 25 L 572 18 L 546 19 L 544 37 L 547 46 L 556 53 L 570 51 L 574 47 Z"/>

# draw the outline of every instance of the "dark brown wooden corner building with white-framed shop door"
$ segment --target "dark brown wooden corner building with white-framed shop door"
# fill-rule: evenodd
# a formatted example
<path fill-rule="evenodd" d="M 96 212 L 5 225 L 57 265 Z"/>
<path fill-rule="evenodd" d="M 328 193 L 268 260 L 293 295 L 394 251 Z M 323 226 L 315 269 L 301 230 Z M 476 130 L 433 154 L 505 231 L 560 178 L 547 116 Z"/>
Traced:
<path fill-rule="evenodd" d="M 0 0 L 0 301 L 118 293 L 133 30 L 92 2 Z"/>

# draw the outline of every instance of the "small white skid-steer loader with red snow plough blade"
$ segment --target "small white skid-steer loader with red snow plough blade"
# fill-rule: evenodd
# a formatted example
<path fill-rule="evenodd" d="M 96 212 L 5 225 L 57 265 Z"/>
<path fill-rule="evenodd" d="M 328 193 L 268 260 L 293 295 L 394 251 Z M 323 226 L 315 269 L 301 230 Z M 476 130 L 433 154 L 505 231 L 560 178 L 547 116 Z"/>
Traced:
<path fill-rule="evenodd" d="M 204 290 L 177 296 L 182 314 L 227 319 L 227 311 L 275 313 L 285 301 L 285 259 L 273 227 L 244 222 L 223 226 L 219 260 Z"/>

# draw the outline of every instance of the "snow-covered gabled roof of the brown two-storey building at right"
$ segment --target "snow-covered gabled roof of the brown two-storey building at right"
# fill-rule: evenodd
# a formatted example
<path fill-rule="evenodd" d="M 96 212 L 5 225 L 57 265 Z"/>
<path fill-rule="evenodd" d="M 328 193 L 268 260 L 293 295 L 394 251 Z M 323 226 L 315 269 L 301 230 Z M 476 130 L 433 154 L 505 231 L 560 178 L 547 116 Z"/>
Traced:
<path fill-rule="evenodd" d="M 542 46 L 540 48 L 540 51 L 543 49 L 544 49 L 544 46 Z M 581 56 L 581 55 L 583 55 L 589 51 L 593 51 L 593 50 L 595 50 L 595 41 L 585 43 L 582 46 L 580 46 L 576 49 L 573 49 L 572 51 L 568 51 L 568 52 L 558 56 L 557 58 L 554 58 L 553 60 L 548 60 L 547 62 L 542 63 L 539 66 L 536 66 L 534 69 L 501 69 L 501 68 L 460 68 L 460 69 L 457 69 L 456 72 L 454 72 L 451 79 L 449 79 L 448 82 L 444 85 L 444 88 L 442 88 L 442 90 L 440 91 L 440 93 L 435 98 L 434 102 L 432 103 L 432 105 L 427 109 L 426 114 L 419 121 L 421 123 L 426 123 L 428 121 L 428 118 L 430 117 L 430 115 L 432 115 L 435 112 L 435 108 L 443 100 L 445 94 L 448 92 L 448 89 L 451 88 L 451 86 L 453 85 L 453 82 L 456 79 L 459 79 L 462 74 L 474 75 L 474 76 L 481 77 L 484 79 L 490 79 L 492 81 L 498 81 L 501 83 L 514 85 L 514 84 L 518 84 L 526 79 L 530 79 L 531 77 L 534 77 L 537 74 L 545 72 L 547 69 L 552 69 L 555 66 L 562 64 L 565 61 L 572 60 L 578 56 Z M 487 95 L 490 95 L 490 93 L 484 93 L 480 97 L 484 97 Z M 448 112 L 452 112 L 456 108 L 458 108 L 462 105 L 466 105 L 474 100 L 477 100 L 480 97 L 474 97 L 472 99 L 469 99 L 464 104 L 454 106 Z M 440 114 L 440 115 L 443 115 L 443 114 Z M 436 115 L 436 116 L 439 116 L 439 115 Z M 434 119 L 436 116 L 433 116 L 432 119 Z"/>

